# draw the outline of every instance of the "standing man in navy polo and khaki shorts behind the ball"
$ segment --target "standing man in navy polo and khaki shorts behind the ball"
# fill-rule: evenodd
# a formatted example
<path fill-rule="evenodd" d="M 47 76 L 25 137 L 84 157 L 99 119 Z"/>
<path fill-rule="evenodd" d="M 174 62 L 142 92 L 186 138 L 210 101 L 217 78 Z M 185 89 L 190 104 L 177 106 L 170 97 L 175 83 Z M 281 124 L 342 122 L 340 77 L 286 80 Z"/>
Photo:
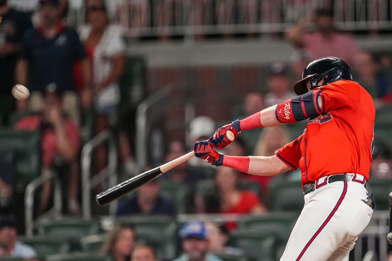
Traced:
<path fill-rule="evenodd" d="M 21 47 L 21 57 L 16 67 L 17 82 L 29 87 L 29 109 L 42 107 L 40 91 L 53 84 L 62 94 L 64 112 L 79 122 L 78 96 L 75 93 L 73 65 L 83 61 L 85 86 L 90 86 L 91 72 L 84 47 L 75 30 L 60 21 L 59 0 L 40 0 L 39 26 L 26 31 Z M 26 109 L 25 101 L 18 101 L 18 108 Z"/>

